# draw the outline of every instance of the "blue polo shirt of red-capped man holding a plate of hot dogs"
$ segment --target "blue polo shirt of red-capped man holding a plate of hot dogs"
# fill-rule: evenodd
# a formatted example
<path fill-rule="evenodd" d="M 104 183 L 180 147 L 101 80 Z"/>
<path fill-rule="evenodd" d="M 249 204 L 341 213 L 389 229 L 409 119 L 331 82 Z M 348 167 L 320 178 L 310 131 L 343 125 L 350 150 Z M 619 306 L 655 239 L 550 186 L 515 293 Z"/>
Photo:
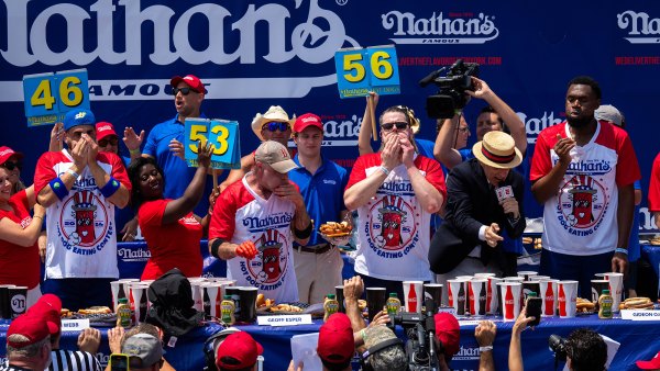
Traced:
<path fill-rule="evenodd" d="M 316 229 L 327 222 L 341 222 L 340 213 L 346 209 L 343 203 L 343 191 L 349 182 L 349 172 L 322 156 L 321 166 L 314 175 L 300 165 L 297 154 L 294 162 L 299 168 L 288 172 L 289 180 L 300 188 L 307 214 L 314 220 L 315 231 L 307 245 L 323 244 L 326 240 L 316 233 Z M 294 245 L 297 246 L 297 244 Z"/>

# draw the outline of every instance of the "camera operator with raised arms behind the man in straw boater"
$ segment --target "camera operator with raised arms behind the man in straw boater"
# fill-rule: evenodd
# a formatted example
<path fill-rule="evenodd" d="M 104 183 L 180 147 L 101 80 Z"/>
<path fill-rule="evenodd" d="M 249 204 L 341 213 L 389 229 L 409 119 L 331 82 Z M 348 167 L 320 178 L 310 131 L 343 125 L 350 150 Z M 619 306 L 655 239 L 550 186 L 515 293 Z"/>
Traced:
<path fill-rule="evenodd" d="M 492 131 L 504 131 L 505 124 L 512 137 L 516 143 L 516 148 L 525 154 L 527 150 L 527 132 L 525 123 L 518 117 L 516 112 L 506 104 L 486 83 L 476 77 L 472 77 L 474 91 L 465 90 L 470 97 L 483 99 L 488 103 L 488 106 L 482 109 L 476 119 L 476 139 L 482 140 L 484 135 Z M 438 161 L 444 165 L 448 169 L 474 158 L 470 148 L 463 150 L 454 149 L 454 143 L 460 135 L 459 122 L 462 113 L 458 112 L 453 119 L 439 119 L 439 124 L 442 122 L 442 127 L 436 138 L 433 147 L 433 156 Z M 464 120 L 463 120 L 464 121 Z"/>

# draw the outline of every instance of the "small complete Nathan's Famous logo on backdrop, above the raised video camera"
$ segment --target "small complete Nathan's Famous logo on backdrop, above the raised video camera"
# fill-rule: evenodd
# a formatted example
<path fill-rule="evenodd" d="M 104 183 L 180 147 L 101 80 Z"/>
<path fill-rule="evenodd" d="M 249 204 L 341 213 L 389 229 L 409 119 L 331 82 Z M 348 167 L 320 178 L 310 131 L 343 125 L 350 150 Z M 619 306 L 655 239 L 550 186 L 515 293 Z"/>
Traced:
<path fill-rule="evenodd" d="M 393 30 L 396 44 L 484 44 L 499 34 L 494 15 L 431 13 L 428 18 L 397 10 L 381 15 L 385 30 Z"/>

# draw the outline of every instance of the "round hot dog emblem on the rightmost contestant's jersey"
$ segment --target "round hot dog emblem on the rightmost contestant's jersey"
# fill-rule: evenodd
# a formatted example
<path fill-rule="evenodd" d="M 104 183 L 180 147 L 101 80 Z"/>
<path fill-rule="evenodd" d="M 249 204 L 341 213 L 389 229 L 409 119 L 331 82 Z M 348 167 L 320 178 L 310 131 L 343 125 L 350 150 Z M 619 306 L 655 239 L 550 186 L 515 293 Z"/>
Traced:
<path fill-rule="evenodd" d="M 573 228 L 591 228 L 600 223 L 605 212 L 605 190 L 594 178 L 578 175 L 560 192 L 560 207 Z"/>

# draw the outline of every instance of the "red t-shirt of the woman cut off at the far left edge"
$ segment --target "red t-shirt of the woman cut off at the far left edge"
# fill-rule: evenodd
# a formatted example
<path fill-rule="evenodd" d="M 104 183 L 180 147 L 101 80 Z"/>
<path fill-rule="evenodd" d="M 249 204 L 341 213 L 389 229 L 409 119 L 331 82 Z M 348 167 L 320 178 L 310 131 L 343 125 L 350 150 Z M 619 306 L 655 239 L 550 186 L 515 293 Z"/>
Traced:
<path fill-rule="evenodd" d="M 25 228 L 32 223 L 28 194 L 21 191 L 9 199 L 13 213 L 0 210 L 0 220 L 7 217 Z M 37 221 L 38 222 L 38 221 Z M 30 247 L 0 239 L 0 284 L 15 284 L 34 289 L 38 284 L 40 258 L 36 241 Z"/>

